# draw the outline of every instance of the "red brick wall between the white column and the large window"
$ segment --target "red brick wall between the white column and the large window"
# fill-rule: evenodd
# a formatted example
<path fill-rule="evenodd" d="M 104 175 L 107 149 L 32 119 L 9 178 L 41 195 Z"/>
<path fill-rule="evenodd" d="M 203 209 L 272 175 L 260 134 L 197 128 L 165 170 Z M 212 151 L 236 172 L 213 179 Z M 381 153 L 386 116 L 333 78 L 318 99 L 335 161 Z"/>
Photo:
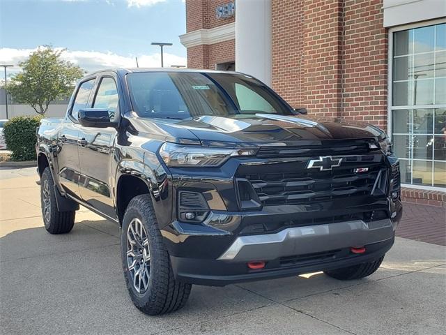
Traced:
<path fill-rule="evenodd" d="M 387 119 L 383 0 L 272 0 L 272 87 L 311 114 Z"/>

